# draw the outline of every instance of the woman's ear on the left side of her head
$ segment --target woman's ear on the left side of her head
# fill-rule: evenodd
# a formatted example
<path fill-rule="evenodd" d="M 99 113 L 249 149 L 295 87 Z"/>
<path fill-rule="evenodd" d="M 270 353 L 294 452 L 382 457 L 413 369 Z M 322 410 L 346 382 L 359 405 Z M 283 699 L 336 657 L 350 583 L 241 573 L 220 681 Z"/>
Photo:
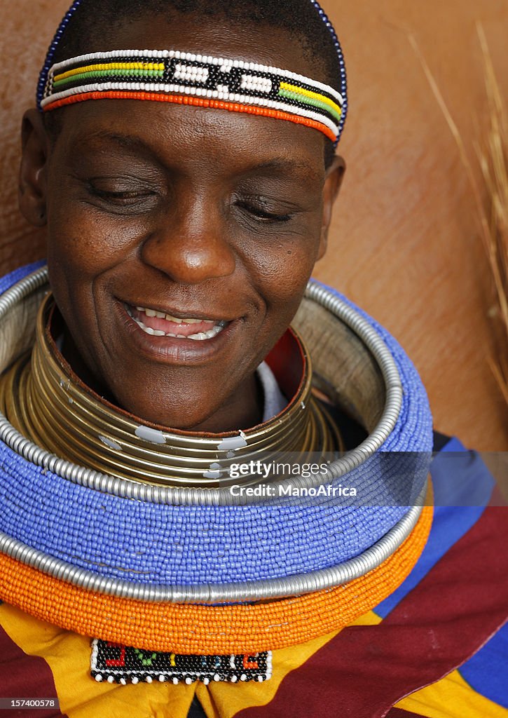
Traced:
<path fill-rule="evenodd" d="M 50 140 L 42 113 L 28 110 L 22 121 L 22 162 L 19 169 L 19 209 L 35 227 L 46 224 L 46 169 Z"/>

